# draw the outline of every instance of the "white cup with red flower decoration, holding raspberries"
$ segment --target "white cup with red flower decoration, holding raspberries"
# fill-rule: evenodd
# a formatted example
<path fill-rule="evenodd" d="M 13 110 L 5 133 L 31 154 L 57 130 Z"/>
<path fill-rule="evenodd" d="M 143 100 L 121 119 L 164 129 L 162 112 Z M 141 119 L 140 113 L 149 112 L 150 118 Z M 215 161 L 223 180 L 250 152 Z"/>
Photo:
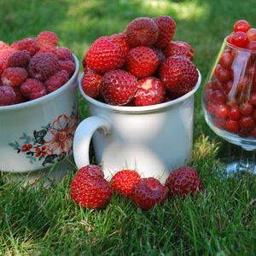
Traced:
<path fill-rule="evenodd" d="M 0 107 L 0 170 L 35 172 L 73 154 L 79 124 L 76 85 L 79 61 L 67 84 L 30 102 Z"/>

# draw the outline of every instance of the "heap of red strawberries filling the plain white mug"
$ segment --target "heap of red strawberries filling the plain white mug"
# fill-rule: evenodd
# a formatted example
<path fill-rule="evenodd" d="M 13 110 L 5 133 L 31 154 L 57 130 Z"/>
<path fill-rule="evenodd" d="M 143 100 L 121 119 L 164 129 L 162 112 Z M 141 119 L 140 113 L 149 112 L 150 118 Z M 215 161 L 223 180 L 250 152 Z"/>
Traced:
<path fill-rule="evenodd" d="M 84 93 L 111 105 L 148 106 L 192 90 L 194 49 L 172 41 L 175 31 L 170 16 L 140 17 L 125 32 L 96 39 L 84 55 Z"/>

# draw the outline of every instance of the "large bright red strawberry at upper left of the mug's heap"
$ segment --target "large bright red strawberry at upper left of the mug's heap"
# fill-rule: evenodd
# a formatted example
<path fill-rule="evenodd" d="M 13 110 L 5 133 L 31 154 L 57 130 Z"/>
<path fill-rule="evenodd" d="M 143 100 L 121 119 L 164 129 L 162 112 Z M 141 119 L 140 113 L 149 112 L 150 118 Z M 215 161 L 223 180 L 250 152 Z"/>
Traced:
<path fill-rule="evenodd" d="M 118 44 L 114 44 L 109 37 L 96 39 L 84 58 L 87 66 L 97 73 L 105 73 L 111 69 L 118 69 L 125 64 L 123 50 Z"/>

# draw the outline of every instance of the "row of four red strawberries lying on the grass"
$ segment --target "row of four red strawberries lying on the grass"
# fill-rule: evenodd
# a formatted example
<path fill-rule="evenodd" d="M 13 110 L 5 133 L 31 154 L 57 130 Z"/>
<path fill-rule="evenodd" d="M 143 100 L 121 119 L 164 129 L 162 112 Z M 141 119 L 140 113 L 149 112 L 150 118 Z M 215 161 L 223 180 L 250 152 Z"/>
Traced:
<path fill-rule="evenodd" d="M 134 170 L 116 172 L 110 182 L 104 178 L 99 166 L 89 165 L 79 169 L 73 178 L 70 193 L 81 207 L 106 207 L 113 192 L 128 197 L 142 210 L 163 204 L 168 197 L 196 195 L 203 191 L 198 173 L 190 167 L 180 167 L 170 173 L 165 185 L 154 177 L 141 177 Z"/>

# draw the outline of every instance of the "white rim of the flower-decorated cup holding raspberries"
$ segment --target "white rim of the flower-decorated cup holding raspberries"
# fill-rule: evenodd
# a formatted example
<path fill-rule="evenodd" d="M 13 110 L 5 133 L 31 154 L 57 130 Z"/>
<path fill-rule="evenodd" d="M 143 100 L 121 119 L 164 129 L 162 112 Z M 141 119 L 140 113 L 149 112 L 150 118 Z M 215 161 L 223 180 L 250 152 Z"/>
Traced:
<path fill-rule="evenodd" d="M 61 86 L 61 88 L 59 88 L 58 90 L 55 90 L 45 96 L 42 96 L 38 99 L 34 99 L 32 101 L 21 102 L 18 104 L 8 105 L 8 106 L 0 106 L 0 113 L 2 111 L 14 110 L 14 109 L 19 109 L 19 108 L 20 109 L 21 108 L 31 108 L 32 106 L 35 106 L 37 104 L 43 104 L 44 102 L 48 102 L 49 100 L 55 98 L 55 96 L 58 96 L 59 94 L 61 94 L 62 91 L 66 90 L 70 84 L 73 84 L 74 80 L 77 78 L 77 76 L 79 74 L 79 59 L 74 54 L 73 54 L 73 60 L 75 62 L 75 71 L 74 71 L 72 77 L 67 81 L 66 84 L 63 84 Z"/>

